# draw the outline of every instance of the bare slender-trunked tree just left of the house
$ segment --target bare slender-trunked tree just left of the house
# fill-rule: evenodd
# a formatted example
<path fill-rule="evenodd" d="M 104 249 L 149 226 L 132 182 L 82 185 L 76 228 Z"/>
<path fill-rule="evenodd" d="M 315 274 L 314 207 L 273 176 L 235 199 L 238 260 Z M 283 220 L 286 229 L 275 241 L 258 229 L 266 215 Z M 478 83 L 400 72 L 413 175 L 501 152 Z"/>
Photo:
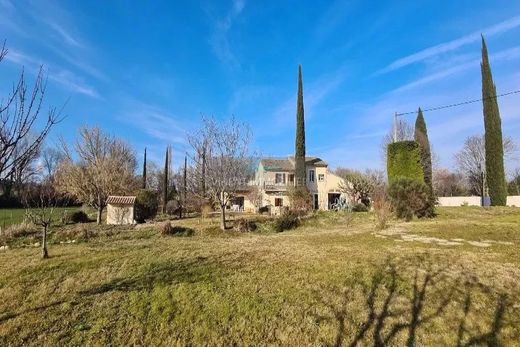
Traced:
<path fill-rule="evenodd" d="M 220 228 L 225 230 L 226 206 L 236 191 L 247 185 L 252 174 L 253 157 L 249 153 L 251 132 L 247 125 L 234 117 L 223 123 L 217 123 L 214 118 L 203 118 L 197 136 L 196 143 L 192 143 L 194 135 L 190 136 L 190 143 L 195 157 L 199 154 L 199 145 L 205 145 L 205 190 L 218 203 Z"/>

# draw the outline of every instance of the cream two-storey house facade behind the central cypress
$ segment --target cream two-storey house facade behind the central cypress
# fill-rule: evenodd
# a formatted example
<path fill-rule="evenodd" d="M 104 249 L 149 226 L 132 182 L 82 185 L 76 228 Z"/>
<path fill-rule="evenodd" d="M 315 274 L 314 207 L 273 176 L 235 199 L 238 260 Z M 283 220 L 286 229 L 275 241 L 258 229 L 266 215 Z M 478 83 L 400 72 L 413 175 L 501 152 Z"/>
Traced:
<path fill-rule="evenodd" d="M 325 161 L 317 157 L 306 157 L 305 167 L 307 188 L 314 209 L 329 210 L 340 198 L 346 198 L 346 194 L 340 191 L 343 179 L 330 172 Z M 294 157 L 260 160 L 250 187 L 258 189 L 262 207 L 267 206 L 274 213 L 290 207 L 289 190 L 295 183 L 294 169 Z M 246 192 L 237 195 L 234 204 L 243 211 L 255 211 L 255 204 Z"/>

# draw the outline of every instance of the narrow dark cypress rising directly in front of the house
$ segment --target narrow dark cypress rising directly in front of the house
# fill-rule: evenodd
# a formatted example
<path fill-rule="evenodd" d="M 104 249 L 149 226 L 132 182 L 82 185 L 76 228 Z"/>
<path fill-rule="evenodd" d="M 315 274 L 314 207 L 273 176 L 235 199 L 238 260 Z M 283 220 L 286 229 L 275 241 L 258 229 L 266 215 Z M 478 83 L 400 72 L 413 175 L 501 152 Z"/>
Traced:
<path fill-rule="evenodd" d="M 296 146 L 295 146 L 296 186 L 306 187 L 305 172 L 305 119 L 303 110 L 302 66 L 298 66 L 298 99 L 296 101 Z"/>

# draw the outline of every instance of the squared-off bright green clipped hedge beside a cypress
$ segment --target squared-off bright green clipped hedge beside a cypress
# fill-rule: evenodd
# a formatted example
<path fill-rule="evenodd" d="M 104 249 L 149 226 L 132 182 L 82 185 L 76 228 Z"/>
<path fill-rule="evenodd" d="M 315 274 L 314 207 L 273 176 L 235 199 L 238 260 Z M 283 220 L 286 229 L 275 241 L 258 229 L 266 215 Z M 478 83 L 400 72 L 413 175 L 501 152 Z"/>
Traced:
<path fill-rule="evenodd" d="M 415 141 L 390 143 L 388 145 L 387 173 L 389 183 L 399 177 L 424 182 L 419 144 Z"/>

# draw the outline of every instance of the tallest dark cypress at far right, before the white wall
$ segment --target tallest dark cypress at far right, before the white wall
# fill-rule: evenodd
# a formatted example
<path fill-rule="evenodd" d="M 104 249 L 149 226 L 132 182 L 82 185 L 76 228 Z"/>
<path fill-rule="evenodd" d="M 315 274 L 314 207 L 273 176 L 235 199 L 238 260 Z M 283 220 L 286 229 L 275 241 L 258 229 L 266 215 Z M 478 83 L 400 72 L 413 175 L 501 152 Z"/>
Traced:
<path fill-rule="evenodd" d="M 486 182 L 491 205 L 505 206 L 507 185 L 504 172 L 504 145 L 502 142 L 502 122 L 498 110 L 496 86 L 491 74 L 488 52 L 482 36 L 482 103 L 484 109 L 484 129 L 486 148 Z"/>

